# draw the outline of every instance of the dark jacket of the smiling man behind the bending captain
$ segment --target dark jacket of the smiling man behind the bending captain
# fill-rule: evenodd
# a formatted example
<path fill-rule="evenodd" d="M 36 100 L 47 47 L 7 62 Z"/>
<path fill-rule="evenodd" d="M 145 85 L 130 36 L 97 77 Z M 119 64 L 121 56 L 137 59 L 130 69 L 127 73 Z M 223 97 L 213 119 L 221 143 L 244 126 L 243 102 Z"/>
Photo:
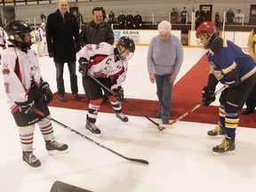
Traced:
<path fill-rule="evenodd" d="M 91 21 L 84 25 L 79 41 L 82 47 L 85 44 L 100 44 L 101 42 L 114 44 L 114 33 L 107 22 L 101 22 L 100 25 L 96 25 Z"/>

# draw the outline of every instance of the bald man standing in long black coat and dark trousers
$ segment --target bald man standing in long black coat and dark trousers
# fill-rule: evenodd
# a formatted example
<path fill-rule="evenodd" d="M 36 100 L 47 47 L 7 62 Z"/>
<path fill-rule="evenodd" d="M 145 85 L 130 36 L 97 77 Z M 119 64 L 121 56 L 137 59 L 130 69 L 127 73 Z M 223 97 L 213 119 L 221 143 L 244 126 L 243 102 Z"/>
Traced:
<path fill-rule="evenodd" d="M 75 15 L 68 12 L 67 0 L 59 0 L 58 10 L 48 15 L 46 40 L 49 57 L 53 57 L 55 62 L 60 101 L 66 101 L 63 79 L 65 62 L 68 63 L 72 96 L 75 100 L 80 100 L 76 76 L 76 52 L 81 49 L 79 44 L 79 27 Z"/>

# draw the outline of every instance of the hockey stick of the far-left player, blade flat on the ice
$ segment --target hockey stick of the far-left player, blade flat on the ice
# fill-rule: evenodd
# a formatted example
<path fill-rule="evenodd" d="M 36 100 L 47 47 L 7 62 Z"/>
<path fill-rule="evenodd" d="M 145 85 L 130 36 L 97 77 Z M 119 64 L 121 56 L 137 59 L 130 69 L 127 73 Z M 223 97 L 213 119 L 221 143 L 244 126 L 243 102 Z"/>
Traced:
<path fill-rule="evenodd" d="M 34 111 L 35 111 L 35 113 L 38 114 L 39 116 L 44 116 L 44 113 L 43 113 L 42 111 L 40 111 L 40 110 L 38 110 L 38 109 L 36 109 L 36 108 L 35 108 Z M 94 144 L 100 146 L 101 148 L 107 149 L 108 151 L 110 151 L 110 152 L 116 154 L 116 156 L 121 156 L 121 157 L 123 157 L 124 159 L 126 159 L 126 160 L 128 160 L 128 161 L 137 162 L 137 163 L 140 163 L 140 164 L 149 164 L 148 161 L 146 161 L 146 160 L 144 160 L 144 159 L 137 159 L 137 158 L 130 158 L 130 157 L 127 157 L 127 156 L 123 156 L 123 155 L 117 153 L 116 151 L 112 150 L 111 148 L 107 148 L 106 146 L 101 145 L 99 142 L 97 142 L 97 141 L 95 141 L 95 140 L 92 140 L 91 138 L 85 136 L 85 135 L 82 134 L 81 132 L 77 132 L 76 130 L 74 130 L 74 129 L 68 127 L 67 125 L 60 123 L 59 121 L 57 121 L 56 119 L 54 119 L 54 118 L 52 118 L 52 117 L 49 117 L 49 116 L 44 116 L 44 117 L 47 118 L 47 119 L 49 119 L 49 120 L 51 120 L 52 122 L 54 122 L 54 123 L 56 123 L 56 124 L 59 124 L 60 126 L 64 127 L 65 129 L 67 129 L 67 130 L 70 131 L 70 132 L 75 132 L 76 134 L 80 135 L 80 136 L 83 137 L 84 139 L 91 141 L 92 143 L 94 143 Z"/>

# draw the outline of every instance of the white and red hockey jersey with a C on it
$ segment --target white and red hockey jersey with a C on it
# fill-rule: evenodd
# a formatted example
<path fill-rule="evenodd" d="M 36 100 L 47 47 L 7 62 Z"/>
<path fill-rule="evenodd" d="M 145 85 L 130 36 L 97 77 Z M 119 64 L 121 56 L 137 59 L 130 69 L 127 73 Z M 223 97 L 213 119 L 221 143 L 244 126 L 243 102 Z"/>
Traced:
<path fill-rule="evenodd" d="M 115 48 L 105 42 L 86 44 L 76 54 L 76 59 L 90 60 L 88 73 L 95 77 L 110 78 L 113 85 L 111 90 L 121 86 L 127 73 L 127 61 L 119 60 L 114 53 Z"/>

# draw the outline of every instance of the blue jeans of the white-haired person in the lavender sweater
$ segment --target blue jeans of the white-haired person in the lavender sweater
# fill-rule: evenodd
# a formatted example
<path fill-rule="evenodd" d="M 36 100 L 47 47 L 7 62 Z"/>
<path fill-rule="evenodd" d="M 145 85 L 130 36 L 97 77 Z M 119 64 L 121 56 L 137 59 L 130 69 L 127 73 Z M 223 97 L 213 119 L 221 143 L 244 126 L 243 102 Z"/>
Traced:
<path fill-rule="evenodd" d="M 160 114 L 162 119 L 170 119 L 172 108 L 172 84 L 169 83 L 171 74 L 159 76 L 155 75 L 156 79 L 156 95 L 160 102 Z"/>

